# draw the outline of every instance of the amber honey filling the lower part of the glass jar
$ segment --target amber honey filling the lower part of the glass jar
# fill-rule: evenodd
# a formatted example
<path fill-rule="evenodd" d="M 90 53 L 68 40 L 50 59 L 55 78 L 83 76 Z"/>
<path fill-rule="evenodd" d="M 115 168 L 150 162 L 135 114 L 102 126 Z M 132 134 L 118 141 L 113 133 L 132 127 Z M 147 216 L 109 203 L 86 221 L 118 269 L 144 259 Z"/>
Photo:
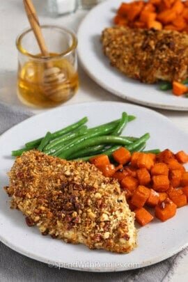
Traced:
<path fill-rule="evenodd" d="M 56 54 L 50 54 L 56 56 Z M 40 57 L 40 55 L 39 55 Z M 52 95 L 47 95 L 44 77 L 46 65 L 31 59 L 18 69 L 18 96 L 27 105 L 36 107 L 54 107 L 69 100 L 77 91 L 79 79 L 74 66 L 65 58 L 53 62 L 63 74 L 63 81 L 52 81 L 50 87 L 54 89 Z M 56 97 L 58 93 L 58 98 Z"/>

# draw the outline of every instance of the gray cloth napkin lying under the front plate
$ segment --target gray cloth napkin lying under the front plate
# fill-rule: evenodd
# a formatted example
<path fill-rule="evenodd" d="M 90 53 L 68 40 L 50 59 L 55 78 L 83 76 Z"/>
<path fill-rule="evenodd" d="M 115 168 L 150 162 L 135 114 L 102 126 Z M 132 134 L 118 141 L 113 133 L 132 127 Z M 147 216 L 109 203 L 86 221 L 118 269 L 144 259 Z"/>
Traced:
<path fill-rule="evenodd" d="M 32 113 L 21 108 L 0 104 L 0 134 L 13 125 L 32 116 Z M 32 242 L 31 242 L 32 244 Z M 94 273 L 79 272 L 69 269 L 58 269 L 26 258 L 9 249 L 0 242 L 0 281 L 3 282 L 36 282 L 36 281 L 81 281 L 81 282 L 158 282 L 170 281 L 180 263 L 180 259 L 188 253 L 188 248 L 175 256 L 149 267 L 127 272 Z M 126 256 L 126 255 L 125 255 Z M 80 258 L 81 259 L 81 258 Z"/>

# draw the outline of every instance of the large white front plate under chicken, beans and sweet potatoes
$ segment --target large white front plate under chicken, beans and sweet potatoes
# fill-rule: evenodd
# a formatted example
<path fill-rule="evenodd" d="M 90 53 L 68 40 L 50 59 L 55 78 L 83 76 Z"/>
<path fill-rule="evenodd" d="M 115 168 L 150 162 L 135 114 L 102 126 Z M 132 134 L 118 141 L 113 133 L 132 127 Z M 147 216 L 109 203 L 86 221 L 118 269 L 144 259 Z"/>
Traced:
<path fill-rule="evenodd" d="M 126 135 L 141 136 L 150 132 L 147 149 L 170 148 L 188 151 L 187 134 L 181 132 L 164 116 L 150 109 L 119 102 L 75 104 L 47 111 L 16 125 L 0 137 L 0 240 L 11 249 L 52 265 L 93 272 L 113 272 L 145 267 L 169 258 L 188 245 L 188 206 L 166 223 L 155 219 L 139 228 L 139 246 L 128 254 L 91 251 L 83 245 L 65 244 L 42 236 L 36 227 L 25 224 L 22 212 L 10 210 L 9 198 L 2 187 L 8 185 L 6 173 L 13 165 L 11 150 L 36 139 L 47 130 L 55 131 L 88 116 L 89 126 L 100 125 L 120 117 L 123 111 L 135 115 L 127 125 Z M 109 265 L 107 265 L 109 264 Z"/>

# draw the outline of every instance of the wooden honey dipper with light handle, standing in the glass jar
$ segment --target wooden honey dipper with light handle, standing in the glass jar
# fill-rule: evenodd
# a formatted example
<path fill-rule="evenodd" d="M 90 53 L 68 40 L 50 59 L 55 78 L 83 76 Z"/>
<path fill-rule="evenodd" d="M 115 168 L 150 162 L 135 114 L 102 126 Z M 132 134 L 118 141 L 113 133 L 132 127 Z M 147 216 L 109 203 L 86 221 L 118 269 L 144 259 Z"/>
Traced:
<path fill-rule="evenodd" d="M 23 2 L 31 29 L 40 47 L 40 52 L 42 56 L 49 58 L 50 54 L 47 50 L 45 38 L 42 35 L 38 15 L 32 0 L 23 0 Z M 65 74 L 63 74 L 60 68 L 54 67 L 51 61 L 46 61 L 45 67 L 42 81 L 45 95 L 49 97 L 50 100 L 61 102 L 68 95 L 69 83 L 66 81 Z"/>

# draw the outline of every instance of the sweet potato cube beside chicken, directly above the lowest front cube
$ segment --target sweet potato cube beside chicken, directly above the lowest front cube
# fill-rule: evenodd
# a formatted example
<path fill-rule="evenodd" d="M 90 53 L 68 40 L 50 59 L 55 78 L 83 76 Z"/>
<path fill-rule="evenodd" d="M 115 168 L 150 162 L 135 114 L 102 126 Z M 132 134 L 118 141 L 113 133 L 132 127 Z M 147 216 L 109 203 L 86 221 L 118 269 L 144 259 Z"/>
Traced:
<path fill-rule="evenodd" d="M 131 203 L 136 207 L 143 207 L 150 196 L 150 189 L 145 186 L 139 185 L 132 195 Z"/>

